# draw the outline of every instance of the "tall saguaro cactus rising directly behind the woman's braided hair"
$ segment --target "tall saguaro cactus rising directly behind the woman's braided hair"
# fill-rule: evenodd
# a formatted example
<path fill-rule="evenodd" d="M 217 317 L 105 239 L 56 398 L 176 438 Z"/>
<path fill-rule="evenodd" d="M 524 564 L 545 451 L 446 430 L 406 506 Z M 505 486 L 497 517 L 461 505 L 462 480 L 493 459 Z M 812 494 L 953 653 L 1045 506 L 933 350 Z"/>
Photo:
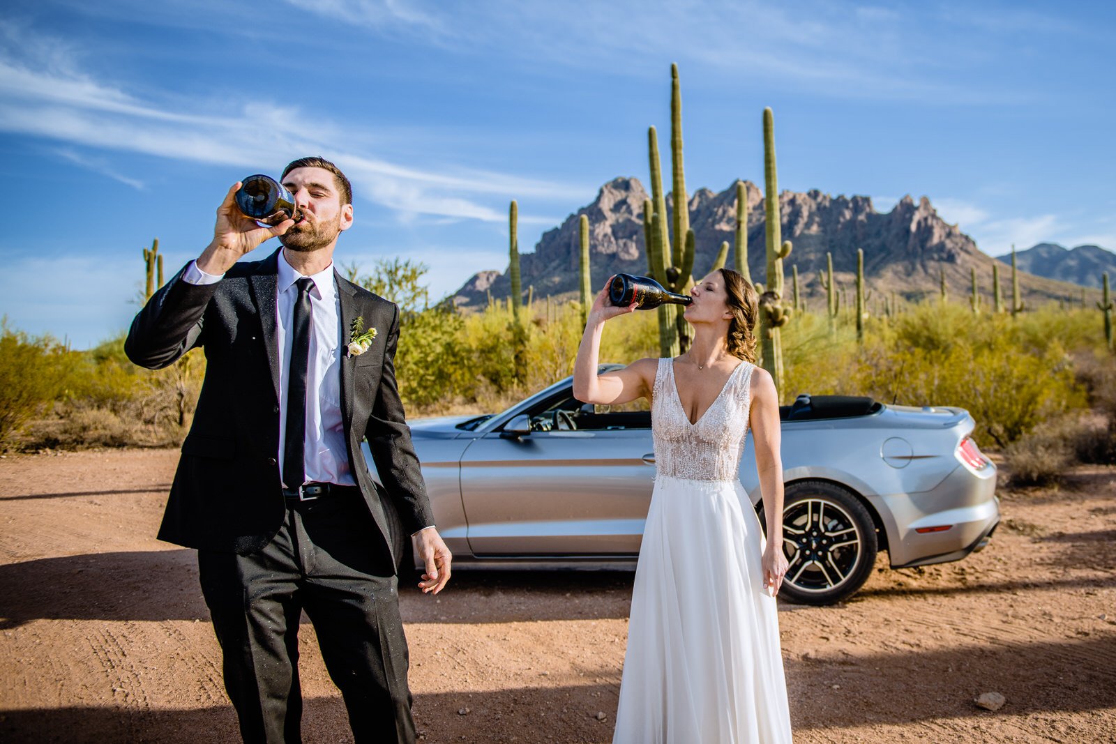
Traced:
<path fill-rule="evenodd" d="M 763 325 L 763 368 L 775 380 L 782 397 L 782 341 L 779 329 L 790 320 L 791 308 L 782 300 L 782 261 L 790 255 L 790 241 L 782 240 L 779 216 L 779 180 L 775 160 L 775 115 L 763 109 L 763 206 L 767 220 L 767 287 L 760 292 L 760 318 Z M 759 288 L 757 288 L 759 289 Z"/>

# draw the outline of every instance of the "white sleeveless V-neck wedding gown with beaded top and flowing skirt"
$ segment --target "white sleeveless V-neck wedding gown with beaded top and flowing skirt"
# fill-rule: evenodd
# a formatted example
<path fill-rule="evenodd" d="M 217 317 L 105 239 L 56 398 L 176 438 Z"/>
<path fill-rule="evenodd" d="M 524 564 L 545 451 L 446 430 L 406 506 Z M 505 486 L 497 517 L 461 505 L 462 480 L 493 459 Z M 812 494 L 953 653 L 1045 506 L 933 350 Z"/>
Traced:
<path fill-rule="evenodd" d="M 655 486 L 632 592 L 615 744 L 790 742 L 763 533 L 740 484 L 754 365 L 691 424 L 660 359 Z"/>

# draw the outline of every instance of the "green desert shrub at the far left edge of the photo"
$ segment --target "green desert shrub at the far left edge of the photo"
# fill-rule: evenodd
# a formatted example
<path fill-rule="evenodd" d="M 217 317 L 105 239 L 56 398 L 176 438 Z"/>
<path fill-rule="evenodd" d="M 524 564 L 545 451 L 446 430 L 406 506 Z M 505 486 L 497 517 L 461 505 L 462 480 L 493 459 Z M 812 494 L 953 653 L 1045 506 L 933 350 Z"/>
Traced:
<path fill-rule="evenodd" d="M 70 352 L 49 336 L 0 323 L 0 443 L 58 396 L 69 364 Z"/>

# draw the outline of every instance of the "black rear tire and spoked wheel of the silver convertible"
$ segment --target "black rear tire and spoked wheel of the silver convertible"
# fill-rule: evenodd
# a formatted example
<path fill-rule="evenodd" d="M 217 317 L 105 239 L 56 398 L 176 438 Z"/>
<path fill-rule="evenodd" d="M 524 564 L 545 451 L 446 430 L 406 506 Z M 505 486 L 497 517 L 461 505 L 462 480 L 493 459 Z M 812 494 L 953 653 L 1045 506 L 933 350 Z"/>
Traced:
<path fill-rule="evenodd" d="M 872 576 L 879 551 L 876 526 L 849 490 L 827 481 L 791 483 L 783 495 L 782 528 L 790 566 L 780 597 L 800 605 L 834 605 Z"/>

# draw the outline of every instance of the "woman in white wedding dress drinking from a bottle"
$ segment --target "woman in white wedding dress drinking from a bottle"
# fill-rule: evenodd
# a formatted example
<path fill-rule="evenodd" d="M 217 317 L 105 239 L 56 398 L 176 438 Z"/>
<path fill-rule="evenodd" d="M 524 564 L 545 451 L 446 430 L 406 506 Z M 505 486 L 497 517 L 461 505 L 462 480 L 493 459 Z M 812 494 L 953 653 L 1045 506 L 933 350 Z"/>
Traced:
<path fill-rule="evenodd" d="M 614 743 L 791 741 L 775 596 L 782 552 L 779 398 L 757 367 L 756 290 L 731 269 L 698 282 L 690 349 L 597 374 L 608 284 L 574 367 L 585 403 L 652 403 L 655 486 L 632 591 Z M 739 480 L 751 428 L 767 537 Z"/>

